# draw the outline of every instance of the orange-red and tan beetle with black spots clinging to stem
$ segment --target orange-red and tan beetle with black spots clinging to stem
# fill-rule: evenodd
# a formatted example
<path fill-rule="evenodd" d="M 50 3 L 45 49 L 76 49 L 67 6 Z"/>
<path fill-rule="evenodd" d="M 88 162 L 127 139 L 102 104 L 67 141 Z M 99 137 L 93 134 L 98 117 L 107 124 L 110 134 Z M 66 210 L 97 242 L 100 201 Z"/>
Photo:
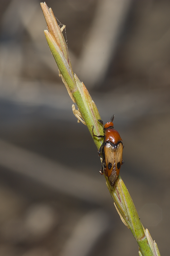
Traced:
<path fill-rule="evenodd" d="M 103 125 L 104 135 L 95 135 L 94 126 L 92 126 L 92 134 L 94 137 L 104 138 L 104 141 L 99 148 L 99 156 L 102 154 L 102 167 L 100 173 L 108 177 L 108 181 L 113 188 L 118 179 L 120 167 L 124 163 L 122 160 L 123 142 L 118 131 L 114 129 L 113 120 L 115 115 L 111 117 L 111 122 L 103 124 L 101 119 L 98 121 Z"/>

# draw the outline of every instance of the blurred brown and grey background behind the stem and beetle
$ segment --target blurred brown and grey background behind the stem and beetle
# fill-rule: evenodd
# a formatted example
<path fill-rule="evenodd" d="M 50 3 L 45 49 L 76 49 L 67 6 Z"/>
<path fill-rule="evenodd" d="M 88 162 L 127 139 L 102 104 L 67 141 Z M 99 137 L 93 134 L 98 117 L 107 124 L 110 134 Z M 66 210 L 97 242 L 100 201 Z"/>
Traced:
<path fill-rule="evenodd" d="M 143 226 L 168 255 L 170 1 L 46 3 L 66 25 L 73 71 L 103 122 L 115 114 L 121 177 Z M 0 255 L 138 255 L 44 29 L 40 1 L 0 1 Z"/>

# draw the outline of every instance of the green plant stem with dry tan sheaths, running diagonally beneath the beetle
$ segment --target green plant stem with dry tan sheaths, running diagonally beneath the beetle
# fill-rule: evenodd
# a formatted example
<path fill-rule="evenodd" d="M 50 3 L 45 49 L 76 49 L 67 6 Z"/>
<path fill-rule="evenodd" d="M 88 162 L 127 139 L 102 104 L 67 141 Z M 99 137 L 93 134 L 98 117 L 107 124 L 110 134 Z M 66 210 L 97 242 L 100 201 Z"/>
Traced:
<path fill-rule="evenodd" d="M 50 47 L 51 53 L 60 70 L 60 76 L 68 90 L 68 93 L 73 100 L 77 103 L 79 111 L 89 129 L 89 132 L 99 150 L 103 139 L 97 138 L 92 135 L 92 126 L 97 135 L 103 134 L 103 127 L 98 122 L 100 118 L 97 107 L 92 100 L 85 85 L 80 82 L 78 77 L 73 73 L 71 61 L 64 40 L 62 30 L 57 25 L 56 19 L 51 9 L 48 8 L 46 3 L 41 3 L 48 30 L 45 30 L 45 36 Z M 87 74 L 88 75 L 88 74 Z M 112 188 L 105 176 L 108 190 L 114 200 L 116 209 L 123 221 L 123 223 L 131 230 L 134 238 L 139 245 L 139 255 L 141 256 L 159 256 L 157 244 L 153 242 L 149 231 L 143 228 L 139 216 L 137 214 L 133 200 L 125 187 L 120 175 L 116 185 Z"/>

